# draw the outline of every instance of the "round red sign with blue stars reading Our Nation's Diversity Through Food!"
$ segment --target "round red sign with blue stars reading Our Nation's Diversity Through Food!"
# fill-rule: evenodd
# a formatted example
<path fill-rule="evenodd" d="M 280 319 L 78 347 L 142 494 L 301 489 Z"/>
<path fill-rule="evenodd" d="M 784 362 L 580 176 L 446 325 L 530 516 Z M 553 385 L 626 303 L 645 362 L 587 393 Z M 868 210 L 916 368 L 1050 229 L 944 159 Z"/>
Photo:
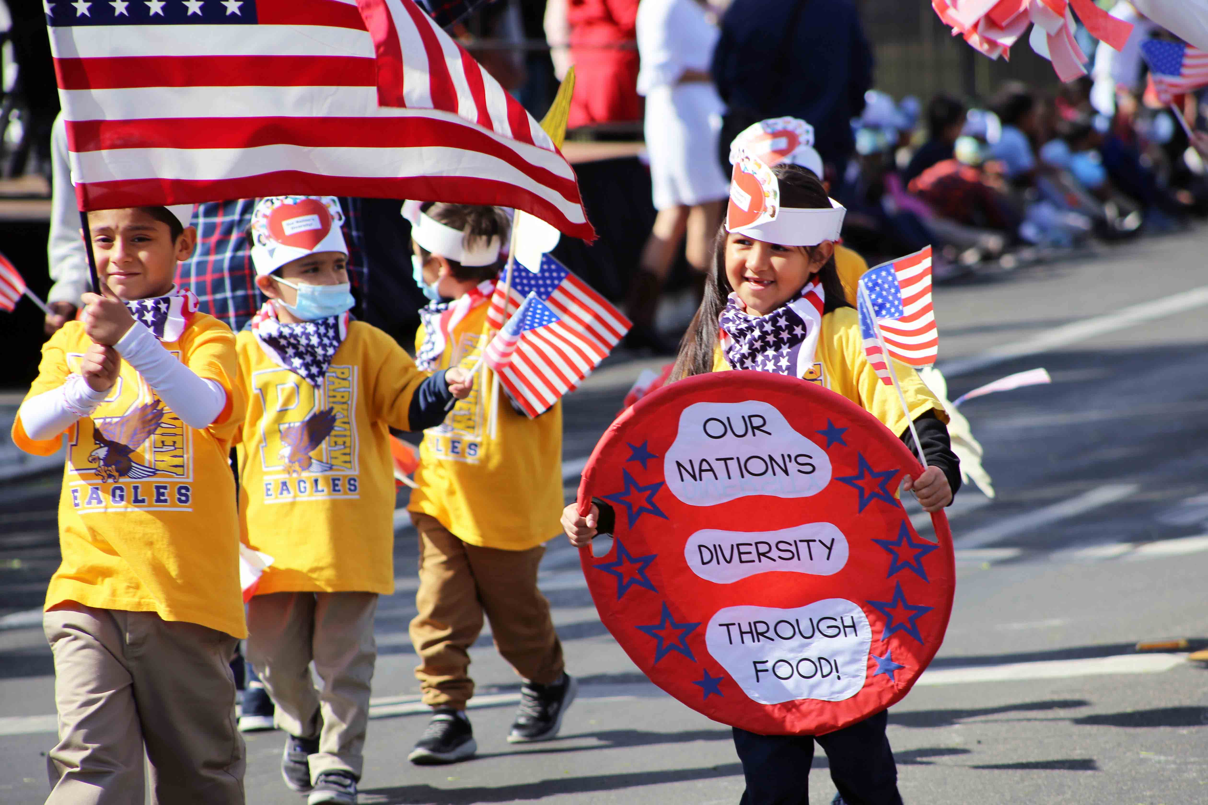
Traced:
<path fill-rule="evenodd" d="M 956 568 L 895 490 L 922 471 L 876 418 L 766 372 L 689 378 L 609 427 L 583 501 L 616 514 L 581 562 L 600 619 L 658 687 L 765 735 L 889 707 L 935 657 Z"/>

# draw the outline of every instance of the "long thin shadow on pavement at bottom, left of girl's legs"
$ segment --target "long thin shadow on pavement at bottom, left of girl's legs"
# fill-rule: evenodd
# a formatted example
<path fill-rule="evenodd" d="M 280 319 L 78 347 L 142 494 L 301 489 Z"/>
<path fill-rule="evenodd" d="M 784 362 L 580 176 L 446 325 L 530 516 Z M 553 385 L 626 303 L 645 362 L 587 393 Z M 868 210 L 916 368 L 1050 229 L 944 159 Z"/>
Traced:
<path fill-rule="evenodd" d="M 407 803 L 441 803 L 442 805 L 467 805 L 470 803 L 511 803 L 518 799 L 544 799 L 556 794 L 588 794 L 597 791 L 640 788 L 695 780 L 742 776 L 737 763 L 703 769 L 672 769 L 667 771 L 638 771 L 631 774 L 596 775 L 585 777 L 553 777 L 512 786 L 476 786 L 469 788 L 435 788 L 432 786 L 397 786 L 394 788 L 370 788 L 361 792 L 383 805 Z"/>

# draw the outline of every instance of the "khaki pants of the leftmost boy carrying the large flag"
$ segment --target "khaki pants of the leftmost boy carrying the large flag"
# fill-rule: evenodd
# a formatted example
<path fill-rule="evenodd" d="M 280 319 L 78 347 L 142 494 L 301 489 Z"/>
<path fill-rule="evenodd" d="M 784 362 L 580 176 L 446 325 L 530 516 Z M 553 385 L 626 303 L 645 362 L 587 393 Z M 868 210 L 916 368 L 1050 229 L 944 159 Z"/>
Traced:
<path fill-rule="evenodd" d="M 59 742 L 50 805 L 242 805 L 236 638 L 153 612 L 65 603 L 42 616 L 54 653 Z"/>

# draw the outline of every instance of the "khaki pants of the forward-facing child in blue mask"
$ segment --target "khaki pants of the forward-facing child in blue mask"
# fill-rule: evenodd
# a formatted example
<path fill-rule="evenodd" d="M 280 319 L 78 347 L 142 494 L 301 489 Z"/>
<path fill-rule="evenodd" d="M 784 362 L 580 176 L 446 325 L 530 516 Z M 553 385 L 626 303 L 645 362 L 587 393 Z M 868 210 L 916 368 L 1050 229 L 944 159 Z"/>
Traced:
<path fill-rule="evenodd" d="M 319 737 L 312 782 L 324 771 L 361 777 L 377 601 L 376 593 L 272 593 L 248 602 L 248 659 L 277 705 L 277 725 Z M 310 681 L 312 661 L 323 690 Z"/>

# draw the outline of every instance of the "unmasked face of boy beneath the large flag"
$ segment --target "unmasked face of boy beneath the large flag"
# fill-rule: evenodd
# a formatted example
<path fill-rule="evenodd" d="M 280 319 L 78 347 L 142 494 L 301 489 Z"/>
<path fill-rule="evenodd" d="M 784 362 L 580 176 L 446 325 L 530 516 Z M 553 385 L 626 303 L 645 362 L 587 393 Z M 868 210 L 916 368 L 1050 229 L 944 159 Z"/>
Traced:
<path fill-rule="evenodd" d="M 172 239 L 168 224 L 138 208 L 88 214 L 92 251 L 100 284 L 118 299 L 163 296 L 176 279 L 176 263 L 188 259 L 197 229 Z"/>

